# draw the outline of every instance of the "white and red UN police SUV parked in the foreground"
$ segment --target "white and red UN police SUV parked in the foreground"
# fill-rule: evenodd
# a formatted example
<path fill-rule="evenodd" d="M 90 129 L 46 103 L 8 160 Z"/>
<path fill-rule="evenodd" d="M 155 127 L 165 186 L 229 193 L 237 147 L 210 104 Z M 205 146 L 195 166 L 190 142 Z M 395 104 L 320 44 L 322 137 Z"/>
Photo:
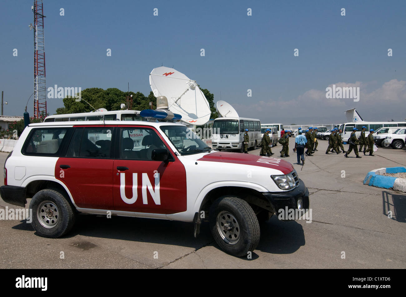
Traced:
<path fill-rule="evenodd" d="M 194 222 L 195 236 L 208 219 L 218 245 L 236 256 L 256 248 L 259 221 L 309 208 L 289 162 L 218 152 L 169 122 L 30 124 L 6 159 L 0 194 L 24 207 L 32 198 L 43 237 L 65 235 L 80 213 Z"/>

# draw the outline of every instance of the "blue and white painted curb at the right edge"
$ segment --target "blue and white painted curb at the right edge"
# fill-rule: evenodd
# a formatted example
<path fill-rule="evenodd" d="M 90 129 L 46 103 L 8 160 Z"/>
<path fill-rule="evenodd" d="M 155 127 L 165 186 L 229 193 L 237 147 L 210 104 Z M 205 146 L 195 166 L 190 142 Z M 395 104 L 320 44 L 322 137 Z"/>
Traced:
<path fill-rule="evenodd" d="M 406 192 L 406 179 L 400 177 L 384 176 L 383 173 L 406 172 L 406 167 L 388 167 L 369 171 L 364 178 L 363 184 L 378 188 L 385 188 Z"/>

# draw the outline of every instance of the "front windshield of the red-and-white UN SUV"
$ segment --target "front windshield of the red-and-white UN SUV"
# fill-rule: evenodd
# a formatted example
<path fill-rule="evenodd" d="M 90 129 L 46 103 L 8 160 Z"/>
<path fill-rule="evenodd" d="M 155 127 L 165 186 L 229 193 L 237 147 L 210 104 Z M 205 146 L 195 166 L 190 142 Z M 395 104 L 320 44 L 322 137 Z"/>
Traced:
<path fill-rule="evenodd" d="M 160 128 L 181 155 L 210 152 L 212 150 L 186 126 L 161 126 Z"/>

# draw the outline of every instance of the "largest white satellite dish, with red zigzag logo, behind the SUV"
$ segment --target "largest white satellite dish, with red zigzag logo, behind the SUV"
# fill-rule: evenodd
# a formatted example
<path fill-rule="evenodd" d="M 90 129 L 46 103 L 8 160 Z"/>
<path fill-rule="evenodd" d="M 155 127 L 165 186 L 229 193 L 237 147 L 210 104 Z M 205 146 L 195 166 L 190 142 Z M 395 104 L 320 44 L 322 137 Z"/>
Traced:
<path fill-rule="evenodd" d="M 196 81 L 165 66 L 154 68 L 149 85 L 155 97 L 166 96 L 169 110 L 182 116 L 182 121 L 203 125 L 210 120 L 210 105 Z"/>

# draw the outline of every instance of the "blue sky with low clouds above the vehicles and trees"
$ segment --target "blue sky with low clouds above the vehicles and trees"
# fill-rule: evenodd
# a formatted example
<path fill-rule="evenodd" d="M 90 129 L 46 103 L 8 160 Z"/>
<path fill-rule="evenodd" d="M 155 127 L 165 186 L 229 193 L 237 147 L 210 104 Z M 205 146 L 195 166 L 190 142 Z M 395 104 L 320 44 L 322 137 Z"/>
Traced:
<path fill-rule="evenodd" d="M 43 3 L 47 87 L 127 90 L 129 82 L 148 95 L 149 73 L 163 64 L 261 122 L 338 123 L 352 107 L 364 120 L 406 118 L 406 1 Z M 33 92 L 32 4 L 1 1 L 5 115 L 22 115 Z M 325 89 L 340 83 L 359 86 L 359 102 L 326 99 Z M 48 99 L 51 114 L 62 106 Z"/>

